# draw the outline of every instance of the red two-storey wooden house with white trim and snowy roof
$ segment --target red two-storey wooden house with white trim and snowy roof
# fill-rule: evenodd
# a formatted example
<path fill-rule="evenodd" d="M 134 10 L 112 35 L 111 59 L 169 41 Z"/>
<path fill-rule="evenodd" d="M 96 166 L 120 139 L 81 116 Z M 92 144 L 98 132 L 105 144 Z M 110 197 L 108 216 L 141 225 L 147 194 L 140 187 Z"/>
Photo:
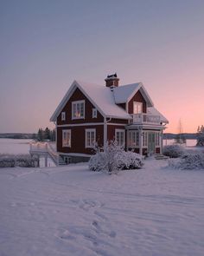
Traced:
<path fill-rule="evenodd" d="M 57 152 L 64 161 L 87 161 L 97 144 L 115 139 L 138 154 L 163 152 L 168 120 L 154 108 L 142 82 L 118 85 L 117 74 L 105 85 L 74 81 L 54 111 Z"/>

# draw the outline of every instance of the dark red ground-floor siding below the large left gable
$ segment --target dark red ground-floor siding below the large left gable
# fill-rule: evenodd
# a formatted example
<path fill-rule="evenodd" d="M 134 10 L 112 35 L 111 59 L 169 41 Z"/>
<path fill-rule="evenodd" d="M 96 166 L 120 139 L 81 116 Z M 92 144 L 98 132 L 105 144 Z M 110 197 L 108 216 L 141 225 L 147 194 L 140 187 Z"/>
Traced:
<path fill-rule="evenodd" d="M 104 126 L 77 126 L 77 127 L 58 127 L 57 128 L 57 151 L 63 153 L 80 153 L 80 154 L 93 154 L 94 151 L 92 148 L 85 148 L 85 130 L 86 128 L 95 128 L 96 129 L 96 141 L 99 146 L 102 146 L 104 143 Z M 71 148 L 62 147 L 62 130 L 71 129 Z"/>

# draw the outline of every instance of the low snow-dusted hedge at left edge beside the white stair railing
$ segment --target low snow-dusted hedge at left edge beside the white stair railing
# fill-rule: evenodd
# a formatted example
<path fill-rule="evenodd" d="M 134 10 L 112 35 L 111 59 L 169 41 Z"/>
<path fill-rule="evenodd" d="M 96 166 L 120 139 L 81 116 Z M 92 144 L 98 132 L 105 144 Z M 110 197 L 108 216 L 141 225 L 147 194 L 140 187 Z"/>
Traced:
<path fill-rule="evenodd" d="M 38 167 L 38 159 L 29 154 L 1 154 L 0 167 Z"/>

